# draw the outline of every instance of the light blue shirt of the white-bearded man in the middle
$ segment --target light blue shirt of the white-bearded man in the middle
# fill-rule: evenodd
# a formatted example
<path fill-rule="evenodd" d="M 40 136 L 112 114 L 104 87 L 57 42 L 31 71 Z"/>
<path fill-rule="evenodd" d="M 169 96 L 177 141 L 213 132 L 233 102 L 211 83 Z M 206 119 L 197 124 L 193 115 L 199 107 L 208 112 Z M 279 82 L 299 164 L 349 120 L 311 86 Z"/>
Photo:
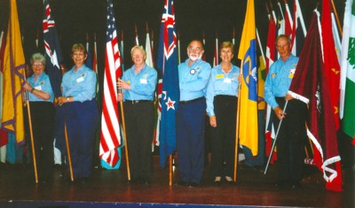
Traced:
<path fill-rule="evenodd" d="M 205 96 L 211 67 L 209 63 L 199 59 L 188 66 L 190 58 L 178 65 L 178 82 L 180 101 L 188 101 Z"/>

